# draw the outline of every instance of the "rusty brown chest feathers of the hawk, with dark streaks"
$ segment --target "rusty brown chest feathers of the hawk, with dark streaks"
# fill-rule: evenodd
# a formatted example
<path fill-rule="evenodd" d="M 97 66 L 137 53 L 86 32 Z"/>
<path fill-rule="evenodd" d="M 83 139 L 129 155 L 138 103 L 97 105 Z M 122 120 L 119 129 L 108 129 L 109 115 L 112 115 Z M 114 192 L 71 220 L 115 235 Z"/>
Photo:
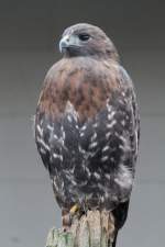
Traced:
<path fill-rule="evenodd" d="M 70 102 L 81 121 L 92 117 L 119 89 L 118 74 L 114 61 L 62 59 L 47 72 L 38 101 L 40 111 L 58 119 Z"/>

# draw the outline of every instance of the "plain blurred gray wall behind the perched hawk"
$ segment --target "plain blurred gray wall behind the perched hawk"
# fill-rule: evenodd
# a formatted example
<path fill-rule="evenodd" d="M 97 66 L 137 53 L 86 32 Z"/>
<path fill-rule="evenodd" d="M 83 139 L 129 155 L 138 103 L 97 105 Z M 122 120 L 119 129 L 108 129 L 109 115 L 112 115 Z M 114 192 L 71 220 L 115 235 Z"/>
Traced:
<path fill-rule="evenodd" d="M 97 24 L 114 41 L 140 102 L 136 181 L 118 246 L 164 246 L 164 12 L 161 0 L 0 0 L 0 246 L 44 246 L 61 225 L 32 116 L 45 72 L 59 58 L 59 35 L 77 22 Z"/>

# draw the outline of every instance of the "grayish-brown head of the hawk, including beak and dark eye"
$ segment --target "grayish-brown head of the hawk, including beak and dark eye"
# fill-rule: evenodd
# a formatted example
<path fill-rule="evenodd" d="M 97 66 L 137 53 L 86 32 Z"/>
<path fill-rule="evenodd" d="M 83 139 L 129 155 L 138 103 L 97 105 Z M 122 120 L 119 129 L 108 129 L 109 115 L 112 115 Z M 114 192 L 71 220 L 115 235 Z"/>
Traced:
<path fill-rule="evenodd" d="M 59 50 L 65 57 L 92 56 L 118 60 L 118 52 L 106 33 L 87 23 L 67 27 L 62 35 Z"/>

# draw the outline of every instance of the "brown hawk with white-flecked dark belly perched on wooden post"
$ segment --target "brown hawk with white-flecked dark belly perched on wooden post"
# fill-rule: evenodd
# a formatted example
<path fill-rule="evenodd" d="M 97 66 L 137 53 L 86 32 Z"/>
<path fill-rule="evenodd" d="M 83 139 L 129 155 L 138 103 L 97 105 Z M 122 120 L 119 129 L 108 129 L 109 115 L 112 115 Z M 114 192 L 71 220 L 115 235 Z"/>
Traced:
<path fill-rule="evenodd" d="M 112 212 L 114 247 L 128 216 L 139 153 L 134 85 L 113 42 L 96 25 L 67 27 L 59 52 L 36 106 L 36 147 L 64 218 L 77 209 Z"/>

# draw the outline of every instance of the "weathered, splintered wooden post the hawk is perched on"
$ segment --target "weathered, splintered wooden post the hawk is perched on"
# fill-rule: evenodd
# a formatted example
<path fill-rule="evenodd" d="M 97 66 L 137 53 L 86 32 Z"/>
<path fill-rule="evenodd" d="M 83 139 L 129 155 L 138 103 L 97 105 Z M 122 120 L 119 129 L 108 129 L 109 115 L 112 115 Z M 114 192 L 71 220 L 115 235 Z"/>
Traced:
<path fill-rule="evenodd" d="M 88 211 L 80 220 L 74 218 L 68 232 L 51 229 L 46 247 L 111 247 L 114 220 L 111 213 Z"/>

